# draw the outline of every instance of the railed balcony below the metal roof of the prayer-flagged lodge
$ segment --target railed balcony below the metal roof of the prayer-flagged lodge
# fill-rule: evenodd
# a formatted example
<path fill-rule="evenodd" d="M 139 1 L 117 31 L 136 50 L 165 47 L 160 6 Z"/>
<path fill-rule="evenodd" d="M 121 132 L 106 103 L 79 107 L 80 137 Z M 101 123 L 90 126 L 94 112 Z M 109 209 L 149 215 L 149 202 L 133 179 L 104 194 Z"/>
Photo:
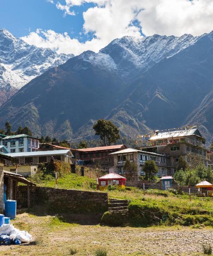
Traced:
<path fill-rule="evenodd" d="M 155 141 L 150 141 L 149 145 L 157 146 L 157 145 L 167 145 L 167 144 L 175 144 L 175 143 L 190 143 L 192 145 L 196 145 L 204 148 L 204 144 L 201 143 L 200 141 L 191 140 L 188 138 L 155 140 Z"/>

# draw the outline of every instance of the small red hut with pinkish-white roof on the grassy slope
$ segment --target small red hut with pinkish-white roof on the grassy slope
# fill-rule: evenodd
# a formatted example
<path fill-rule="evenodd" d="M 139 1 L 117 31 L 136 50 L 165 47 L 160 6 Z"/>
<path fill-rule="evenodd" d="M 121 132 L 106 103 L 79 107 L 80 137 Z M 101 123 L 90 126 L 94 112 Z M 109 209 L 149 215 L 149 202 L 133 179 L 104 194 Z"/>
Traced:
<path fill-rule="evenodd" d="M 107 189 L 108 185 L 115 185 L 121 188 L 124 188 L 126 185 L 126 178 L 118 175 L 117 173 L 109 173 L 98 178 L 98 185 L 100 190 Z"/>

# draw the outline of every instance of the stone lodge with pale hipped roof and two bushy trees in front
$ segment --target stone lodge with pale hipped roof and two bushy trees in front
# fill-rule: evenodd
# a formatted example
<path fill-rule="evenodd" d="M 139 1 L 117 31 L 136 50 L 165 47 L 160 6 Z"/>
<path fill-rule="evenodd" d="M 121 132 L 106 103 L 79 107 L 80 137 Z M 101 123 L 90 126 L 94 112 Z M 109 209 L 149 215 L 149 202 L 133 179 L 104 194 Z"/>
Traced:
<path fill-rule="evenodd" d="M 128 178 L 127 173 L 125 174 L 124 172 L 124 164 L 126 163 L 126 160 L 129 159 L 130 162 L 135 162 L 135 164 L 138 166 L 138 171 L 133 177 L 133 180 L 138 180 L 139 176 L 145 175 L 143 171 L 144 163 L 147 160 L 153 160 L 158 167 L 158 177 L 167 175 L 167 157 L 165 157 L 163 154 L 127 148 L 111 153 L 110 155 L 114 156 L 114 166 L 109 169 L 109 172 L 115 172 L 122 176 L 127 176 Z"/>

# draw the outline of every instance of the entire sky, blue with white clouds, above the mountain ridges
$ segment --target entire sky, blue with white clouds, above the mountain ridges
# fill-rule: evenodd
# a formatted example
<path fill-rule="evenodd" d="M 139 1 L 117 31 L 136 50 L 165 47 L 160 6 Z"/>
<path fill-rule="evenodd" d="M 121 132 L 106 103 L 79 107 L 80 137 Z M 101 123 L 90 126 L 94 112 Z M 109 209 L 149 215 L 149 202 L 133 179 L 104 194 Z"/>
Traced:
<path fill-rule="evenodd" d="M 213 0 L 0 0 L 0 28 L 28 44 L 78 55 L 126 35 L 211 32 Z"/>

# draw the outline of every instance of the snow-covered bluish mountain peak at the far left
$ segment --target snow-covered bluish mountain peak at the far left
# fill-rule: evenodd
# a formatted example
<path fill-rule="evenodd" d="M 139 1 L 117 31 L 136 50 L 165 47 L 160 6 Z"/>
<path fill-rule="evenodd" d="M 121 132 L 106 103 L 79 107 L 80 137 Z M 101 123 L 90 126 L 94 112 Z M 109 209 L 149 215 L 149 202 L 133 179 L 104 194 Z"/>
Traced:
<path fill-rule="evenodd" d="M 0 104 L 6 95 L 14 94 L 36 76 L 73 56 L 29 45 L 6 29 L 0 29 L 0 91 L 5 96 Z"/>

